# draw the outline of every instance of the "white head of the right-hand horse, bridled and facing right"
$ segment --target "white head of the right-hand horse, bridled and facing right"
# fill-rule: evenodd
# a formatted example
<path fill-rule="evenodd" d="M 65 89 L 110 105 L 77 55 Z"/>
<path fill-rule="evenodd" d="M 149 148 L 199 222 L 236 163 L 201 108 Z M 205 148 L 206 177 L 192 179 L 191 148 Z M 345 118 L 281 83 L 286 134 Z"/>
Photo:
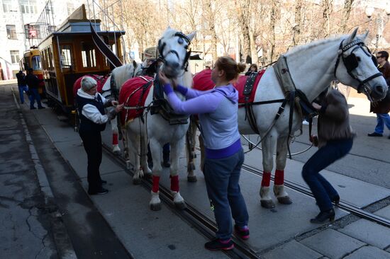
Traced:
<path fill-rule="evenodd" d="M 386 96 L 387 84 L 377 69 L 377 59 L 364 45 L 367 33 L 357 35 L 357 28 L 342 40 L 335 65 L 335 77 L 342 84 L 364 93 L 370 101 Z"/>

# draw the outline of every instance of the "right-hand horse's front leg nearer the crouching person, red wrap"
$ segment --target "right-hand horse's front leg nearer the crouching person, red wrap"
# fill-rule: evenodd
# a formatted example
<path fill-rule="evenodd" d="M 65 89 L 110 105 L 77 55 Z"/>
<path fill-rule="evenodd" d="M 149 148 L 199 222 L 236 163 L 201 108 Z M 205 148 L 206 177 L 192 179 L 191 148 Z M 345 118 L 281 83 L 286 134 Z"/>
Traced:
<path fill-rule="evenodd" d="M 284 168 L 286 168 L 287 151 L 287 137 L 279 137 L 277 140 L 277 169 L 275 171 L 274 194 L 279 203 L 289 205 L 292 202 L 284 190 Z"/>

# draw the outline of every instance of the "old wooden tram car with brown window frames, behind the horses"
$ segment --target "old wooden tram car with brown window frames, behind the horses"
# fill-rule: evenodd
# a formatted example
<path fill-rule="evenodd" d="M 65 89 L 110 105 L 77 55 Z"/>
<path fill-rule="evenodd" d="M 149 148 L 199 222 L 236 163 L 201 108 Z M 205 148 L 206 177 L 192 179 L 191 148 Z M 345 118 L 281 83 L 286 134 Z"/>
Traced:
<path fill-rule="evenodd" d="M 65 113 L 74 108 L 74 81 L 85 74 L 109 74 L 112 69 L 94 43 L 91 26 L 112 52 L 121 57 L 124 31 L 102 32 L 99 20 L 87 19 L 84 5 L 38 45 L 48 103 L 50 106 L 60 105 Z"/>

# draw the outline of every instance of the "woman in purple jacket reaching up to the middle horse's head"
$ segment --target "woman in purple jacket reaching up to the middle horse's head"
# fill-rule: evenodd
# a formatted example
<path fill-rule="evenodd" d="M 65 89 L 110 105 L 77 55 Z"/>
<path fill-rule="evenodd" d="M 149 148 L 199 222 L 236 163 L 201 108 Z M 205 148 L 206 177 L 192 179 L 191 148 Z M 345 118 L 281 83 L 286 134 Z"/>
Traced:
<path fill-rule="evenodd" d="M 237 64 L 231 57 L 219 57 L 211 73 L 216 86 L 209 91 L 196 91 L 177 85 L 160 72 L 160 81 L 175 113 L 197 114 L 201 136 L 206 147 L 204 178 L 211 209 L 216 217 L 216 238 L 205 243 L 209 250 L 234 248 L 231 235 L 232 219 L 240 238 L 249 238 L 248 213 L 240 192 L 240 170 L 244 162 L 243 148 L 238 133 L 238 91 L 230 83 L 244 71 L 245 64 Z M 186 97 L 180 100 L 176 93 Z"/>

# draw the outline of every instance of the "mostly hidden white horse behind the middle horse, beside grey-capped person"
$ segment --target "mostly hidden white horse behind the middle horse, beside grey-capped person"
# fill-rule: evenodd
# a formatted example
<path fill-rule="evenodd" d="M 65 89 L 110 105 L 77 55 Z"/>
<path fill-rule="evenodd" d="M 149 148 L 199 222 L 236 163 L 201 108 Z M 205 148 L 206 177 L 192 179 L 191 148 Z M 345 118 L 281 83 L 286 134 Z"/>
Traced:
<path fill-rule="evenodd" d="M 140 75 L 141 72 L 141 64 L 136 62 L 130 62 L 129 64 L 124 64 L 121 67 L 116 67 L 113 71 L 111 71 L 111 76 L 108 76 L 108 79 L 104 83 L 104 86 L 101 89 L 101 95 L 104 96 L 104 98 L 115 98 L 117 100 L 118 93 L 121 91 L 123 83 L 134 76 Z M 111 129 L 113 134 L 113 153 L 120 154 L 121 148 L 118 145 L 118 120 L 116 117 L 111 120 Z"/>

